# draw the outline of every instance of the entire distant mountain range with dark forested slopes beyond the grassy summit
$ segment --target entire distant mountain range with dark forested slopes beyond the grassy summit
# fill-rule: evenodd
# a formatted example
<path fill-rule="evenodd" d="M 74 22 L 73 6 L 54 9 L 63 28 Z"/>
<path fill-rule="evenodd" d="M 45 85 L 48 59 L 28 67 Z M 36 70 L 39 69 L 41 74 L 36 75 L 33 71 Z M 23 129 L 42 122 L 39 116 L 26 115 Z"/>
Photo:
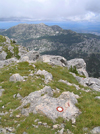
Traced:
<path fill-rule="evenodd" d="M 66 59 L 83 58 L 90 76 L 100 77 L 100 36 L 80 34 L 61 27 L 40 24 L 19 24 L 0 32 L 29 50 L 41 54 L 61 55 Z M 92 65 L 91 65 L 92 63 Z"/>

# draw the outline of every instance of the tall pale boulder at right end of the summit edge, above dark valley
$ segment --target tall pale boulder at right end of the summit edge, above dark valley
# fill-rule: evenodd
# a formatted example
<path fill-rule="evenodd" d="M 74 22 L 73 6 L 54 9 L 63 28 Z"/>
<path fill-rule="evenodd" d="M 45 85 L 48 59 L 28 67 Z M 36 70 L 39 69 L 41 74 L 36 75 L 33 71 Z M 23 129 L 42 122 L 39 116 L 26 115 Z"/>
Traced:
<path fill-rule="evenodd" d="M 67 61 L 67 63 L 68 63 L 67 65 L 68 68 L 70 68 L 71 66 L 72 67 L 75 66 L 80 75 L 84 75 L 88 77 L 88 73 L 86 71 L 86 63 L 83 59 L 75 58 L 75 59 Z"/>

